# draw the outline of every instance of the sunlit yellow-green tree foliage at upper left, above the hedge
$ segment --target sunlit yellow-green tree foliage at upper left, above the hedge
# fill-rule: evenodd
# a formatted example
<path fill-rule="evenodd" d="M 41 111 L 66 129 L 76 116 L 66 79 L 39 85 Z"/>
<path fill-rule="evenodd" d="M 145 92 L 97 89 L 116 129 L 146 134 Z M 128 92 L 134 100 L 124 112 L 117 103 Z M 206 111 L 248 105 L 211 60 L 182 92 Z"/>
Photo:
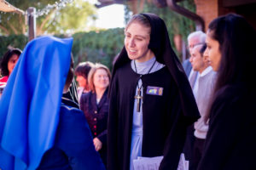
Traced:
<path fill-rule="evenodd" d="M 29 7 L 35 7 L 37 11 L 42 10 L 48 4 L 59 2 L 56 0 L 9 0 L 9 3 L 26 11 Z M 74 0 L 65 8 L 52 9 L 49 14 L 37 18 L 37 33 L 73 33 L 74 31 L 85 31 L 86 23 L 96 20 L 96 8 L 83 0 Z M 0 14 L 0 34 L 25 34 L 25 15 L 14 13 Z"/>

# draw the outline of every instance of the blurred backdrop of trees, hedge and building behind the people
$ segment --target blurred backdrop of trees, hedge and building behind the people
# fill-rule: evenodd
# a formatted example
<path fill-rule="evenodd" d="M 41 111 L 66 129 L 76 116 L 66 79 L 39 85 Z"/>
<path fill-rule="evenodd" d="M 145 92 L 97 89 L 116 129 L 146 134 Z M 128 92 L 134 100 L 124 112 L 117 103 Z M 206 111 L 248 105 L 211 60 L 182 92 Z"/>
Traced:
<path fill-rule="evenodd" d="M 219 15 L 241 14 L 256 27 L 256 0 L 172 2 L 175 5 L 166 0 L 1 0 L 0 58 L 8 48 L 23 49 L 34 31 L 32 38 L 73 37 L 75 64 L 90 60 L 112 68 L 113 58 L 124 45 L 125 22 L 131 14 L 143 12 L 158 14 L 165 20 L 172 47 L 181 61 L 188 57 L 189 33 L 206 31 L 209 22 Z M 6 3 L 10 10 L 3 7 Z M 36 8 L 36 14 L 28 14 L 29 7 Z M 183 8 L 186 14 L 177 8 Z M 35 16 L 34 25 L 28 24 L 28 16 Z M 29 26 L 32 27 L 30 33 Z"/>

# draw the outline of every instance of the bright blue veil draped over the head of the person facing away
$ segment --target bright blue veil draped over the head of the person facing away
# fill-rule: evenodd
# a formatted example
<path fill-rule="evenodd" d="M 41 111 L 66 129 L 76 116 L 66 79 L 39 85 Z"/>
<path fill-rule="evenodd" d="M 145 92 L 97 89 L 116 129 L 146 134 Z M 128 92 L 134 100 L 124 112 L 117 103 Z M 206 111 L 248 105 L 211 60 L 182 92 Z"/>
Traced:
<path fill-rule="evenodd" d="M 26 45 L 0 100 L 0 168 L 35 169 L 53 146 L 72 38 Z"/>

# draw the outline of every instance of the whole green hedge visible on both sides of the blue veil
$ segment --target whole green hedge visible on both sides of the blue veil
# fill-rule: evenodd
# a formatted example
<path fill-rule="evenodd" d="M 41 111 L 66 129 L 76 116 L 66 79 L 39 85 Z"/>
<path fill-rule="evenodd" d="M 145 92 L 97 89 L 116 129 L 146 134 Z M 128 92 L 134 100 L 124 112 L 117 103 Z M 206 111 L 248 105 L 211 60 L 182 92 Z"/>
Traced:
<path fill-rule="evenodd" d="M 55 37 L 65 37 L 55 35 Z M 8 50 L 8 46 L 23 48 L 27 37 L 24 35 L 0 36 L 0 58 Z M 113 58 L 118 54 L 124 44 L 124 30 L 121 28 L 106 31 L 79 32 L 73 34 L 73 58 L 75 65 L 82 61 L 99 62 L 112 69 Z"/>

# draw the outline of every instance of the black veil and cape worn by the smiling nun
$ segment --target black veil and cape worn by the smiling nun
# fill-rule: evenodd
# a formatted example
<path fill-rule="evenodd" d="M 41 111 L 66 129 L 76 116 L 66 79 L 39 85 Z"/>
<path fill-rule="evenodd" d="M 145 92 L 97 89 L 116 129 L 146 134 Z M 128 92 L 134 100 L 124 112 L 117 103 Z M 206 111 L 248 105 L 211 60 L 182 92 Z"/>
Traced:
<path fill-rule="evenodd" d="M 166 25 L 155 14 L 143 14 L 151 25 L 150 48 L 166 65 L 143 75 L 142 156 L 164 156 L 160 169 L 176 170 L 183 150 L 186 128 L 199 112 L 183 71 L 172 51 Z M 129 170 L 134 97 L 139 76 L 131 69 L 125 48 L 113 66 L 108 115 L 108 170 Z M 163 88 L 163 95 L 147 94 L 148 86 Z"/>

